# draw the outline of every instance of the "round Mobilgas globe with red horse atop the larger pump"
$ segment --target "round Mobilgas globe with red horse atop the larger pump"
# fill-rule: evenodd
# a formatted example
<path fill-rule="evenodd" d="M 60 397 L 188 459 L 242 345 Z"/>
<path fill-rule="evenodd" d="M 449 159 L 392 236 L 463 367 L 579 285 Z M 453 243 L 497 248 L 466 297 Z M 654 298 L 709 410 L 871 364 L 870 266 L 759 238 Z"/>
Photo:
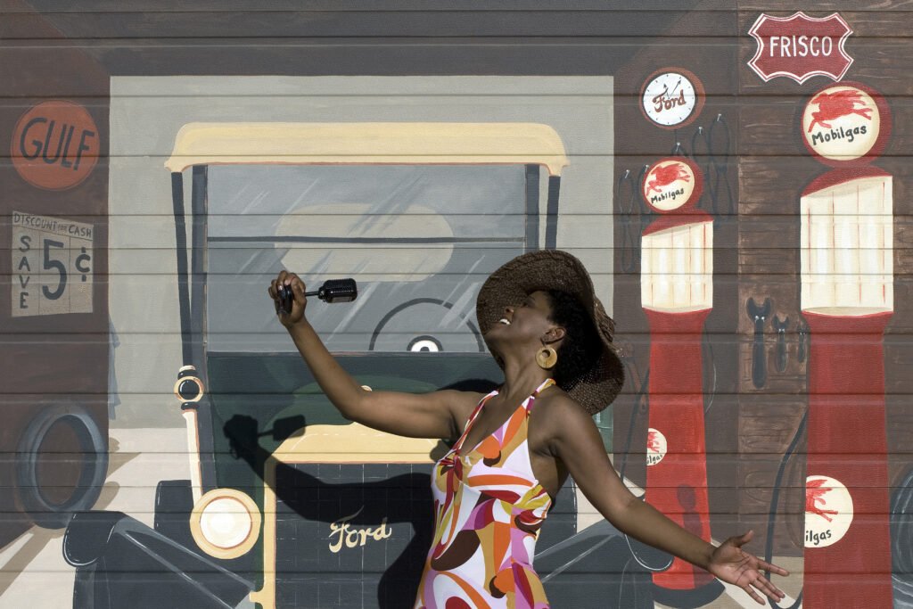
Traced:
<path fill-rule="evenodd" d="M 865 161 L 884 148 L 887 121 L 887 105 L 874 90 L 855 83 L 833 85 L 805 104 L 803 142 L 823 163 Z"/>

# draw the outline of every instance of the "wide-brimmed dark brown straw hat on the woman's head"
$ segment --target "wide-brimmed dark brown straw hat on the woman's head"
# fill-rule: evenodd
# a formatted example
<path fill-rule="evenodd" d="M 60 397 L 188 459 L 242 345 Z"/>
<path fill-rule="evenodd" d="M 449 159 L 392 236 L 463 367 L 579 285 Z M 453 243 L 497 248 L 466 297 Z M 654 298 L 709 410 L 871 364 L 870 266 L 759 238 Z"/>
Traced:
<path fill-rule="evenodd" d="M 478 292 L 476 316 L 484 337 L 504 317 L 504 308 L 519 304 L 538 289 L 560 289 L 580 301 L 593 320 L 603 350 L 589 370 L 561 386 L 591 415 L 612 404 L 624 384 L 624 365 L 612 339 L 615 324 L 593 291 L 593 279 L 576 257 L 557 249 L 541 249 L 515 257 L 491 274 Z M 489 346 L 489 351 L 491 350 Z M 498 356 L 498 365 L 503 362 Z"/>

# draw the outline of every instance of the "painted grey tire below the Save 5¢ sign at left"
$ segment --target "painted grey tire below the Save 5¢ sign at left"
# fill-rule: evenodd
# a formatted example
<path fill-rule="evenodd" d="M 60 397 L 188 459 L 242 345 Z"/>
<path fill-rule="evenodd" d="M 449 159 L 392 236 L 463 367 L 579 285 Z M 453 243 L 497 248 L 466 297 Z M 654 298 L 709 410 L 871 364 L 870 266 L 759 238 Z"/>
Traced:
<path fill-rule="evenodd" d="M 47 450 L 48 446 L 62 446 L 63 450 L 54 453 Z M 67 451 L 68 447 L 72 450 Z M 51 472 L 58 479 L 48 479 Z M 78 404 L 45 408 L 29 422 L 19 439 L 16 496 L 40 527 L 61 529 L 73 513 L 91 509 L 99 499 L 107 473 L 108 438 L 102 436 L 99 425 Z"/>

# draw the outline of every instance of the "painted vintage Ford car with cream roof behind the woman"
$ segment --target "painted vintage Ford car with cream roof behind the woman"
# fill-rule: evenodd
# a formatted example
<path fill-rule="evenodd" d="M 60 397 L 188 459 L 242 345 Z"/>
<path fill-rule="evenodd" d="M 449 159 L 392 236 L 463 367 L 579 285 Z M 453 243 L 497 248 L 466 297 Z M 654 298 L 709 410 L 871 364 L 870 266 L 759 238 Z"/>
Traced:
<path fill-rule="evenodd" d="M 193 573 L 173 590 L 194 606 L 410 604 L 446 445 L 343 419 L 266 289 L 283 268 L 310 289 L 355 279 L 354 301 L 312 299 L 308 314 L 366 387 L 488 391 L 503 377 L 476 326 L 477 291 L 510 258 L 554 247 L 567 163 L 557 133 L 532 123 L 185 125 L 166 168 L 191 478 L 159 484 L 155 530 L 123 515 L 74 522 L 65 554 L 84 565 L 85 597 L 131 589 L 115 564 L 160 560 Z M 569 542 L 576 511 L 569 482 L 537 545 L 556 574 L 605 537 Z M 79 532 L 93 526 L 117 542 L 86 551 Z"/>

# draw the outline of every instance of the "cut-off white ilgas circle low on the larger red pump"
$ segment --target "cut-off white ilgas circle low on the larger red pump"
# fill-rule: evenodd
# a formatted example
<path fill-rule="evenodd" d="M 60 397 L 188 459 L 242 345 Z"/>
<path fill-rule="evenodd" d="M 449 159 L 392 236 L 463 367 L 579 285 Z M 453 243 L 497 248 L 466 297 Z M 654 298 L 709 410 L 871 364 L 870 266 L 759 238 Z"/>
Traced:
<path fill-rule="evenodd" d="M 805 547 L 826 548 L 843 539 L 853 524 L 853 498 L 839 481 L 826 476 L 805 480 Z"/>

